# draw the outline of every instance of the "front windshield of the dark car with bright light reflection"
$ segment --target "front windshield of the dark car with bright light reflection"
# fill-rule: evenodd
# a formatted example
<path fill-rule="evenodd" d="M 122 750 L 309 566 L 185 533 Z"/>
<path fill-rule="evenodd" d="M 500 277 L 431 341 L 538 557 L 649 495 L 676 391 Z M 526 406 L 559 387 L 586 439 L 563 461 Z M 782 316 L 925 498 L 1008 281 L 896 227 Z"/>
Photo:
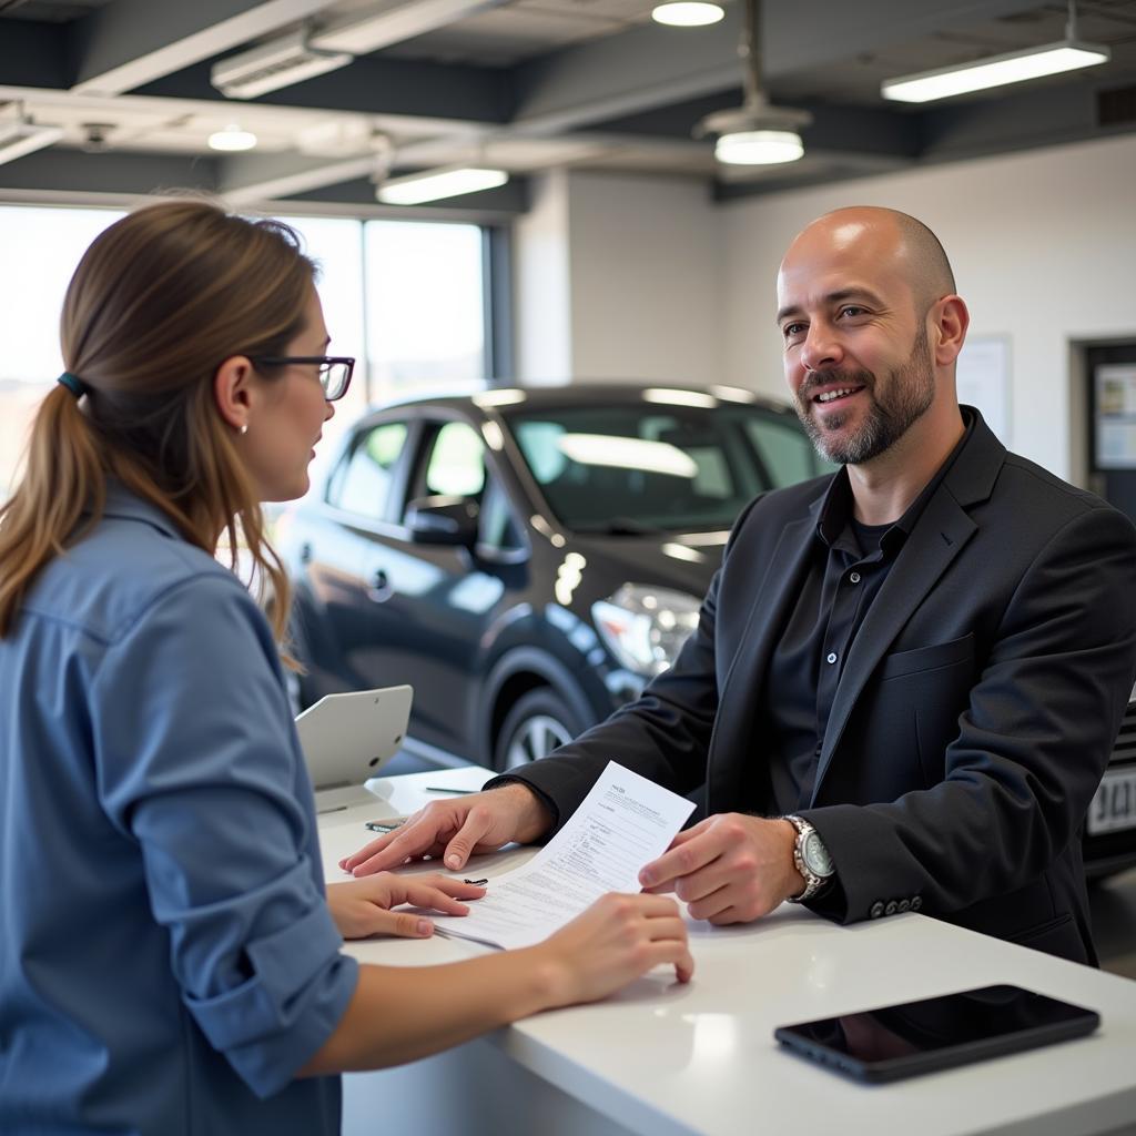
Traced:
<path fill-rule="evenodd" d="M 502 415 L 557 519 L 577 532 L 728 528 L 755 494 L 833 468 L 792 415 L 754 406 L 637 401 Z"/>

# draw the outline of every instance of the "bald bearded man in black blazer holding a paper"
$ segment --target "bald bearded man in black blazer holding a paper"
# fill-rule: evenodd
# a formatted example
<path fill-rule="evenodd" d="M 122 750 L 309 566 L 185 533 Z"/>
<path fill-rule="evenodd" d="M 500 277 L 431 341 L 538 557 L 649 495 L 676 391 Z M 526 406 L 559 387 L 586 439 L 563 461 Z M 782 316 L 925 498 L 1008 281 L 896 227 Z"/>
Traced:
<path fill-rule="evenodd" d="M 707 819 L 641 875 L 694 918 L 922 910 L 1095 962 L 1079 835 L 1136 677 L 1136 531 L 960 409 L 969 317 L 919 222 L 821 217 L 777 293 L 797 412 L 843 468 L 749 506 L 637 702 L 344 866 L 546 838 L 615 759 L 705 780 Z"/>

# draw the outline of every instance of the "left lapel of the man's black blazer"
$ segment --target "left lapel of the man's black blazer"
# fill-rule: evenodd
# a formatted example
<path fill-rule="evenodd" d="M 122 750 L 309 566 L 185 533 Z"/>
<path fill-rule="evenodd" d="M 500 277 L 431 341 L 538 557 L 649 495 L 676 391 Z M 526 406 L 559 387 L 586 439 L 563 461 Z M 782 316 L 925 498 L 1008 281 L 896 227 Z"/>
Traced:
<path fill-rule="evenodd" d="M 738 754 L 751 753 L 755 747 L 753 722 L 766 669 L 790 604 L 800 591 L 817 531 L 818 510 L 819 501 L 810 507 L 808 517 L 785 525 L 765 578 L 754 592 L 737 653 L 718 694 L 718 713 L 707 758 L 708 815 L 738 807 L 746 772 L 746 761 L 738 760 Z M 718 618 L 724 617 L 719 611 Z"/>

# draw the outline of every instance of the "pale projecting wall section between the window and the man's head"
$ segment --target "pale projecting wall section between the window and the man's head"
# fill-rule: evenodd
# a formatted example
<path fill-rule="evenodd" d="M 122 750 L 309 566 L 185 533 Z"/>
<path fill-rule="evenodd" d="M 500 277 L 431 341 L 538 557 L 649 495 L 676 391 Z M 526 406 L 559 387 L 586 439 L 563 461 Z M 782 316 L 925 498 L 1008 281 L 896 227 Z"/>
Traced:
<path fill-rule="evenodd" d="M 720 382 L 719 228 L 701 181 L 538 178 L 513 236 L 518 378 Z"/>

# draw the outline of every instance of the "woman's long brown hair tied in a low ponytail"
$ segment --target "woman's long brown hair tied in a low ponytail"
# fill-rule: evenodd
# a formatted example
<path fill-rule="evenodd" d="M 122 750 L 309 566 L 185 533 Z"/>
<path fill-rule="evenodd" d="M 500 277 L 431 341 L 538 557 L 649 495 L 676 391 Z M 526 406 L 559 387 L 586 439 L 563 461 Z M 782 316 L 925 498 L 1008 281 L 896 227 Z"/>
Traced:
<path fill-rule="evenodd" d="M 283 641 L 287 578 L 212 377 L 234 354 L 285 354 L 314 279 L 291 228 L 209 201 L 147 206 L 94 240 L 60 325 L 64 365 L 86 398 L 61 385 L 44 398 L 0 507 L 0 637 L 41 569 L 97 524 L 115 477 L 210 554 L 227 533 L 234 570 L 243 537 Z"/>

